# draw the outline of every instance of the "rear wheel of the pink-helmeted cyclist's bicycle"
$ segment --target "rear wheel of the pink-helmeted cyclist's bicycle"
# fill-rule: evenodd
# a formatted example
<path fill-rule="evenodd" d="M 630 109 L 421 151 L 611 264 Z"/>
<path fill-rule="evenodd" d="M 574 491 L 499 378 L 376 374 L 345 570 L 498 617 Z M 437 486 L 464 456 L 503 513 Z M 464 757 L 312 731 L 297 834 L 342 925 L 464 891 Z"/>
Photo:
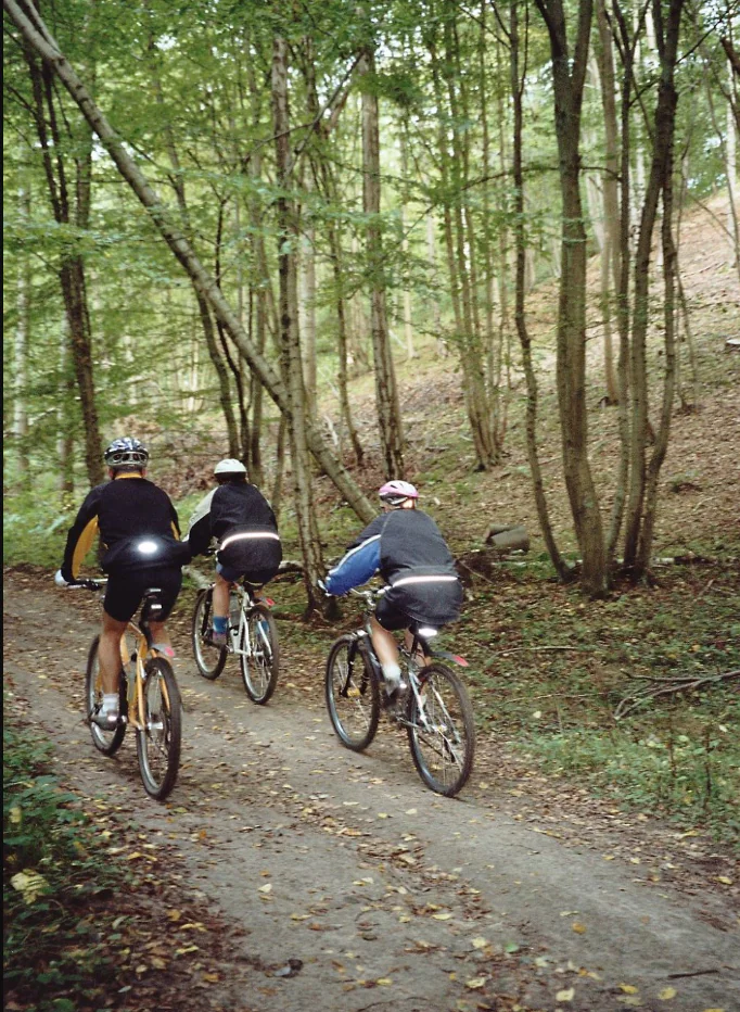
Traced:
<path fill-rule="evenodd" d="M 454 671 L 430 665 L 418 674 L 419 695 L 409 690 L 409 746 L 428 787 L 451 798 L 468 782 L 475 751 L 475 723 L 468 691 Z"/>

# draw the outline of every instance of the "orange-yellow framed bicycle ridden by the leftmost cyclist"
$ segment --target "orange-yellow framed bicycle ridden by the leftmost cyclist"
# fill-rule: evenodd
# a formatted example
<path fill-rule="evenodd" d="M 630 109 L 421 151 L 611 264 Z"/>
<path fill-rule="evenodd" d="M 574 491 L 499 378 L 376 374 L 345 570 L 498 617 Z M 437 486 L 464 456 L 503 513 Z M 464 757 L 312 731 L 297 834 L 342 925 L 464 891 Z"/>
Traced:
<path fill-rule="evenodd" d="M 79 580 L 72 589 L 100 591 L 104 580 Z M 173 667 L 152 643 L 149 622 L 162 610 L 161 590 L 144 592 L 138 623 L 131 620 L 120 637 L 120 680 L 118 723 L 111 731 L 91 721 L 102 703 L 103 687 L 98 662 L 100 636 L 90 645 L 85 675 L 87 720 L 92 744 L 104 756 L 120 748 L 127 726 L 136 731 L 137 757 L 144 790 L 157 801 L 164 800 L 177 781 L 182 738 L 182 698 Z"/>

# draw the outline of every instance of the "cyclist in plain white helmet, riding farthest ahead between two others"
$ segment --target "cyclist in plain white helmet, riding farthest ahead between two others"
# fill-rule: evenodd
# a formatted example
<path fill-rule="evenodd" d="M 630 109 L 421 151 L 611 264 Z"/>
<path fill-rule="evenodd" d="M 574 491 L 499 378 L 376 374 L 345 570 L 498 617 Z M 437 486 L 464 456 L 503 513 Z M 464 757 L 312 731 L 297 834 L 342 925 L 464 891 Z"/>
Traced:
<path fill-rule="evenodd" d="M 245 577 L 248 583 L 263 586 L 280 568 L 282 546 L 270 504 L 247 481 L 241 460 L 219 460 L 214 477 L 217 486 L 195 508 L 186 541 L 193 556 L 207 552 L 212 539 L 218 544 L 210 635 L 214 646 L 225 646 L 229 584 Z"/>

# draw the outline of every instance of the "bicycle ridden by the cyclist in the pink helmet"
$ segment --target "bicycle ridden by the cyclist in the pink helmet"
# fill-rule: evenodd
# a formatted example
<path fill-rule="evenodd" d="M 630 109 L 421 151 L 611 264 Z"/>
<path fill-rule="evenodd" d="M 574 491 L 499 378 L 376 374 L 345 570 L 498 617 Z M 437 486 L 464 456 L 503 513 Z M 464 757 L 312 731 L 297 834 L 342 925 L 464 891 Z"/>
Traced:
<path fill-rule="evenodd" d="M 468 667 L 464 658 L 433 650 L 436 629 L 413 623 L 410 649 L 400 647 L 407 690 L 392 699 L 384 688 L 383 669 L 370 638 L 370 613 L 383 593 L 352 591 L 365 598 L 362 627 L 334 641 L 327 660 L 326 696 L 329 718 L 339 739 L 362 751 L 378 731 L 381 709 L 406 729 L 411 757 L 422 781 L 432 790 L 454 797 L 464 787 L 473 768 L 475 723 L 465 686 L 436 658 Z M 421 667 L 419 660 L 423 658 Z"/>

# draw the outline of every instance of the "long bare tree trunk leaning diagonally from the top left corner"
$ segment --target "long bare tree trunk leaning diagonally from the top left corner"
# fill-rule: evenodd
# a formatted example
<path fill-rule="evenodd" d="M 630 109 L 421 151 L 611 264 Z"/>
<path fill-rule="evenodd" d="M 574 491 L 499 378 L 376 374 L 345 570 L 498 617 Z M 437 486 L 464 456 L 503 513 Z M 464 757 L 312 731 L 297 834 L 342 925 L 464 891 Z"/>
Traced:
<path fill-rule="evenodd" d="M 60 80 L 75 100 L 80 112 L 113 159 L 122 176 L 148 210 L 158 231 L 189 277 L 196 280 L 214 313 L 221 320 L 232 340 L 239 345 L 250 367 L 259 378 L 259 381 L 268 391 L 278 408 L 283 414 L 290 415 L 290 406 L 280 378 L 263 354 L 258 352 L 248 340 L 237 315 L 219 291 L 214 278 L 204 269 L 190 246 L 190 243 L 171 223 L 168 208 L 152 190 L 138 165 L 126 151 L 120 137 L 113 130 L 100 109 L 98 109 L 92 101 L 89 92 L 75 74 L 66 58 L 60 52 L 56 42 L 51 38 L 41 20 L 35 16 L 34 23 L 31 23 L 24 14 L 16 0 L 3 0 L 3 4 L 10 18 L 23 34 L 29 46 L 53 67 Z M 347 503 L 355 510 L 360 520 L 363 520 L 366 523 L 369 522 L 375 516 L 375 510 L 357 488 L 352 477 L 334 458 L 333 454 L 330 453 L 320 432 L 312 422 L 307 427 L 306 439 L 311 453 L 318 460 L 320 467 L 323 468 L 331 481 L 336 485 L 337 491 L 347 499 Z"/>

